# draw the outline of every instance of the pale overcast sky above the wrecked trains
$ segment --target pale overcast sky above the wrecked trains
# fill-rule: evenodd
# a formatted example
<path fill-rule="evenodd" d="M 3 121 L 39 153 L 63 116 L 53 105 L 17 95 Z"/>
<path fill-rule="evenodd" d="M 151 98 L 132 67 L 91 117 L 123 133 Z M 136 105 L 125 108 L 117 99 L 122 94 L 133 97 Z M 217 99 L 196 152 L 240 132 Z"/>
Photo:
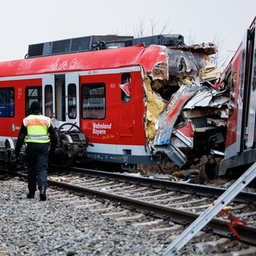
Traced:
<path fill-rule="evenodd" d="M 182 34 L 215 42 L 230 58 L 256 15 L 256 0 L 1 0 L 0 61 L 24 58 L 30 44 L 93 34 Z"/>

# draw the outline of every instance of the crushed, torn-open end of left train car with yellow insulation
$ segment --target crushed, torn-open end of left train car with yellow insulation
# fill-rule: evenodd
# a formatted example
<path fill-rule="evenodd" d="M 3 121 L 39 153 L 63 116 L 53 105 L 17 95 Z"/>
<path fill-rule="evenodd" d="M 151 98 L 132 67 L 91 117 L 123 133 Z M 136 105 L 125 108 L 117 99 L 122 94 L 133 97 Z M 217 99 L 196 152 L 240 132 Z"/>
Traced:
<path fill-rule="evenodd" d="M 179 168 L 202 156 L 214 166 L 224 155 L 229 105 L 229 92 L 216 86 L 220 72 L 210 62 L 217 47 L 205 43 L 166 52 L 166 63 L 155 65 L 144 78 L 147 139 Z"/>

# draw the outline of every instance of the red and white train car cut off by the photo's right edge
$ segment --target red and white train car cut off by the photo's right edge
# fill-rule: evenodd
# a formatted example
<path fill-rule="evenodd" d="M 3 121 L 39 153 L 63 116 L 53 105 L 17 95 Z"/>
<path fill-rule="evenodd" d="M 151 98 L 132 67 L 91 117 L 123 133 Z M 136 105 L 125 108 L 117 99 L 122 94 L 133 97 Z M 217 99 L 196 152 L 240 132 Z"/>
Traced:
<path fill-rule="evenodd" d="M 256 161 L 256 34 L 252 22 L 234 58 L 226 69 L 226 83 L 230 86 L 229 119 L 224 159 L 218 166 L 218 175 L 233 172 L 239 166 Z"/>

